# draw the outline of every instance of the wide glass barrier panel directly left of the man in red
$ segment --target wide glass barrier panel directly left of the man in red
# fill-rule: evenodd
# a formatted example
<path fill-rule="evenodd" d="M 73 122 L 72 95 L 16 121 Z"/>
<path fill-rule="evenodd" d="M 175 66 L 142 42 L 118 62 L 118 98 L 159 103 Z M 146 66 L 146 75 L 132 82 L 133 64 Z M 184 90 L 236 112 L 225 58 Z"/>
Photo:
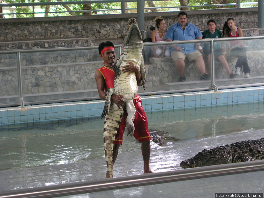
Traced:
<path fill-rule="evenodd" d="M 25 102 L 98 96 L 94 72 L 104 64 L 97 49 L 25 53 L 21 65 Z"/>

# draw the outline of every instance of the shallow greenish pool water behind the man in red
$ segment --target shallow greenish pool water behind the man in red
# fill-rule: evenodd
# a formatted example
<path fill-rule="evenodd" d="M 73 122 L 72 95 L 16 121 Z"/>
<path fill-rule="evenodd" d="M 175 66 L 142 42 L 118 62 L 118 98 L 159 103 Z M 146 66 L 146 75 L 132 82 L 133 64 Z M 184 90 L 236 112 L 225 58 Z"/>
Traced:
<path fill-rule="evenodd" d="M 149 129 L 158 131 L 154 133 L 163 140 L 163 145 L 151 141 L 151 158 L 166 155 L 169 166 L 170 155 L 174 159 L 175 152 L 178 159 L 183 158 L 181 153 L 186 155 L 186 150 L 174 149 L 177 145 L 218 136 L 224 139 L 232 134 L 250 138 L 251 132 L 263 131 L 264 103 L 147 112 L 147 117 Z M 99 118 L 83 118 L 1 126 L 0 170 L 103 158 L 103 125 L 104 120 Z M 202 147 L 214 146 L 207 141 Z M 170 148 L 174 150 L 167 152 Z M 139 150 L 141 144 L 135 138 L 124 137 L 119 154 Z"/>

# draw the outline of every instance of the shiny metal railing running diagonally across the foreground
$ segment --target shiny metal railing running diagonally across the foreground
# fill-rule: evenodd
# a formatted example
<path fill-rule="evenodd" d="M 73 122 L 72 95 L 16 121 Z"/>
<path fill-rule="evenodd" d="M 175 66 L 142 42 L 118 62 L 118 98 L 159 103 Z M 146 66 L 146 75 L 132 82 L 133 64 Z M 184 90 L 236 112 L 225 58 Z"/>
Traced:
<path fill-rule="evenodd" d="M 222 164 L 152 174 L 133 175 L 130 177 L 74 182 L 60 185 L 17 189 L 6 192 L 2 191 L 0 198 L 59 197 L 263 170 L 263 160 L 256 160 L 251 162 Z"/>

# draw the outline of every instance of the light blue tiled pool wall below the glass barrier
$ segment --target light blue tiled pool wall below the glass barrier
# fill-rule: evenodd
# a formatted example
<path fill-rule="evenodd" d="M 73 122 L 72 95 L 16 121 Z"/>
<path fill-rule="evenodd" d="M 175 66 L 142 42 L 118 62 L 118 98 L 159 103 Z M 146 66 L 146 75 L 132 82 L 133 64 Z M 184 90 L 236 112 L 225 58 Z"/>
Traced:
<path fill-rule="evenodd" d="M 143 108 L 148 111 L 189 109 L 264 101 L 264 86 L 214 91 L 185 92 L 142 96 Z M 0 108 L 0 124 L 99 117 L 104 101 L 78 101 L 54 104 Z"/>

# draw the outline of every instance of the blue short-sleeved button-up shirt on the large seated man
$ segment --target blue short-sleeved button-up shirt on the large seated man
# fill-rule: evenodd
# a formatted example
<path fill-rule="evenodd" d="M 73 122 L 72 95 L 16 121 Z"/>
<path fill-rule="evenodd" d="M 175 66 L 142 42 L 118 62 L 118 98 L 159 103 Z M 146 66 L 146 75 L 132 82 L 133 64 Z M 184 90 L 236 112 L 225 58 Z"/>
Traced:
<path fill-rule="evenodd" d="M 182 26 L 180 23 L 175 23 L 168 29 L 165 39 L 170 40 L 194 40 L 199 38 L 200 36 L 203 36 L 200 32 L 199 28 L 197 28 L 192 23 L 187 23 L 187 26 L 185 27 L 185 30 L 183 31 Z M 196 51 L 195 43 L 189 43 L 189 44 L 179 44 L 177 46 L 180 46 L 181 48 L 184 48 L 184 50 L 181 50 L 182 53 L 185 52 L 185 54 L 192 53 Z M 170 52 L 176 51 L 172 47 L 170 47 Z"/>

